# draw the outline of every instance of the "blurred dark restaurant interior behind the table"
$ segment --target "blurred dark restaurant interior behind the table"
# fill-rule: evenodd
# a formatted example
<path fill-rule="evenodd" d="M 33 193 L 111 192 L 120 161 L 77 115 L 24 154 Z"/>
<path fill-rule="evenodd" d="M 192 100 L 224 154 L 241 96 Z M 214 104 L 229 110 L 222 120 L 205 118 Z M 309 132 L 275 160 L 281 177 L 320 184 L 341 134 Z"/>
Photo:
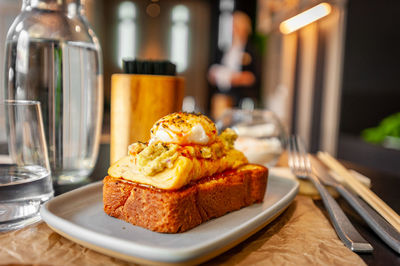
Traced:
<path fill-rule="evenodd" d="M 82 4 L 103 49 L 105 136 L 122 58 L 168 59 L 186 79 L 185 110 L 216 119 L 228 107 L 267 108 L 312 152 L 400 172 L 399 1 Z M 0 0 L 2 90 L 5 38 L 20 9 Z"/>

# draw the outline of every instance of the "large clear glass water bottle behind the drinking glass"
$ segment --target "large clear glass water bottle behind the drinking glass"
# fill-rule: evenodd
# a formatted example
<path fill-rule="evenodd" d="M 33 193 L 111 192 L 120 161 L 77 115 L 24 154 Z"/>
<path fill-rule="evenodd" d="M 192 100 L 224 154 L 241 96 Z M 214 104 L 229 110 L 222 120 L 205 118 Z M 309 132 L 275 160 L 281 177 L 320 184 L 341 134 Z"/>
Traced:
<path fill-rule="evenodd" d="M 79 0 L 24 0 L 6 39 L 5 99 L 38 100 L 53 180 L 82 181 L 103 115 L 99 41 Z"/>

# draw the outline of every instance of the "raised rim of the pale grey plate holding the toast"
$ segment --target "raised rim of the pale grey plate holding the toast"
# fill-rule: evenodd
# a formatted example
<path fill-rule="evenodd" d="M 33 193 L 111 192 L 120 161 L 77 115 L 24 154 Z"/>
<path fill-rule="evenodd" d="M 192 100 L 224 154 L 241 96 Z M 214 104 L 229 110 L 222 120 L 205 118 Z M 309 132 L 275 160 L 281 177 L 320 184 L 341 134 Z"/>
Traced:
<path fill-rule="evenodd" d="M 222 251 L 218 253 L 220 254 L 226 251 L 226 249 L 223 249 L 225 246 L 228 246 L 229 244 L 237 241 L 238 239 L 243 238 L 240 241 L 238 241 L 238 243 L 242 242 L 243 240 L 250 237 L 252 234 L 257 232 L 261 228 L 265 227 L 277 216 L 279 216 L 292 203 L 292 201 L 296 197 L 299 189 L 299 183 L 297 180 L 291 178 L 279 176 L 276 174 L 270 174 L 269 180 L 273 178 L 274 179 L 276 178 L 278 180 L 282 179 L 284 180 L 284 182 L 291 183 L 290 184 L 291 189 L 287 192 L 287 194 L 279 198 L 274 203 L 273 206 L 271 206 L 273 207 L 272 209 L 268 208 L 260 213 L 257 213 L 255 216 L 250 217 L 245 223 L 242 223 L 239 226 L 235 227 L 233 230 L 219 236 L 218 239 L 216 240 L 214 239 L 209 241 L 202 241 L 199 245 L 194 245 L 187 248 L 177 249 L 177 248 L 167 248 L 167 247 L 152 247 L 148 244 L 137 244 L 134 241 L 129 241 L 111 235 L 106 235 L 104 233 L 92 230 L 88 227 L 77 225 L 72 221 L 59 217 L 57 214 L 53 213 L 50 210 L 52 205 L 56 205 L 57 203 L 62 202 L 66 198 L 73 197 L 74 195 L 85 192 L 86 190 L 101 189 L 103 185 L 102 181 L 85 185 L 83 187 L 69 191 L 67 193 L 61 194 L 53 198 L 52 200 L 42 205 L 42 207 L 40 208 L 40 213 L 42 215 L 43 220 L 53 230 L 56 229 L 55 230 L 56 232 L 58 233 L 59 231 L 63 232 L 64 234 L 62 235 L 64 237 L 69 238 L 74 242 L 77 242 L 76 240 L 78 239 L 80 240 L 80 242 L 88 243 L 91 245 L 91 247 L 89 247 L 91 249 L 95 249 L 93 246 L 99 247 L 99 249 L 103 250 L 103 252 L 100 251 L 101 253 L 105 253 L 104 249 L 107 249 L 112 251 L 113 253 L 122 254 L 123 259 L 125 260 L 127 259 L 126 256 L 128 256 L 132 257 L 133 260 L 131 261 L 137 261 L 137 259 L 139 258 L 147 262 L 153 261 L 155 263 L 173 263 L 173 264 L 185 263 L 191 260 L 195 260 L 196 258 L 199 257 L 205 257 L 207 254 L 212 253 L 214 250 L 222 249 Z M 251 208 L 251 206 L 247 206 L 245 208 Z M 82 237 L 83 235 L 84 237 Z M 99 245 L 99 243 L 102 244 Z M 88 246 L 85 245 L 84 243 L 80 244 Z M 155 258 L 154 254 L 157 254 L 157 258 Z M 215 254 L 214 256 L 218 254 Z M 113 256 L 115 256 L 115 254 Z M 121 258 L 121 256 L 119 257 Z"/>

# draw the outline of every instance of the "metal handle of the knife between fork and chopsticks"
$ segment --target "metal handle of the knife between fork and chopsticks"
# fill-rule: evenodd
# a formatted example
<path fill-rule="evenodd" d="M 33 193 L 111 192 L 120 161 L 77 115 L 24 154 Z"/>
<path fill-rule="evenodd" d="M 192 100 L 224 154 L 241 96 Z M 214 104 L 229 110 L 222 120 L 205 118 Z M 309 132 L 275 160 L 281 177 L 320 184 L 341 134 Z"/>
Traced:
<path fill-rule="evenodd" d="M 337 191 L 353 209 L 364 219 L 369 227 L 390 246 L 400 254 L 400 233 L 393 228 L 382 216 L 374 211 L 366 202 L 353 195 L 344 186 L 338 185 Z"/>

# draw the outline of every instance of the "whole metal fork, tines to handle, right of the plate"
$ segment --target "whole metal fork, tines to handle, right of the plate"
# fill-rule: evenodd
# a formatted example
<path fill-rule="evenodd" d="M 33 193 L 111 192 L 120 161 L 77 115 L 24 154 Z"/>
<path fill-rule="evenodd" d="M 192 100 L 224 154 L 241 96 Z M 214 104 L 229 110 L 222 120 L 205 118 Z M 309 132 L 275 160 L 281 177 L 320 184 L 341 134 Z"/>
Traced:
<path fill-rule="evenodd" d="M 329 213 L 335 231 L 343 244 L 354 252 L 372 252 L 373 248 L 354 228 L 339 204 L 311 171 L 311 162 L 303 142 L 298 136 L 289 139 L 289 167 L 293 174 L 309 179 L 321 195 L 322 202 Z"/>

